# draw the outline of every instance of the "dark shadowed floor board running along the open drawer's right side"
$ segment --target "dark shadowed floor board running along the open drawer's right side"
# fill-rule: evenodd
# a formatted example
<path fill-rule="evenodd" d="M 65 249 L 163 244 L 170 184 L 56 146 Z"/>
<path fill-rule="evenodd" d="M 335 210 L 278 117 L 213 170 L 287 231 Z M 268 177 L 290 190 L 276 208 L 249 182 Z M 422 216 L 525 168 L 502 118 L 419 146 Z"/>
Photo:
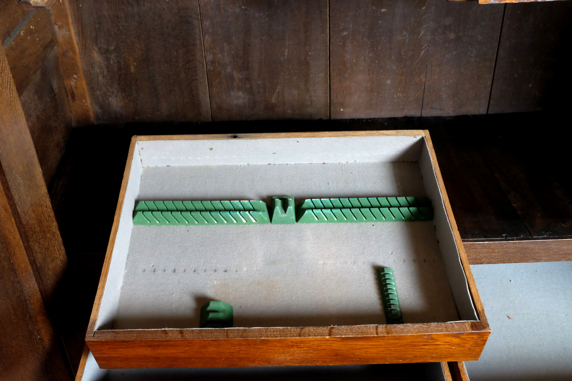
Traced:
<path fill-rule="evenodd" d="M 463 239 L 530 237 L 517 211 L 478 150 L 472 132 L 480 117 L 424 119 L 435 137 L 435 151 Z M 459 128 L 463 126 L 463 128 Z"/>

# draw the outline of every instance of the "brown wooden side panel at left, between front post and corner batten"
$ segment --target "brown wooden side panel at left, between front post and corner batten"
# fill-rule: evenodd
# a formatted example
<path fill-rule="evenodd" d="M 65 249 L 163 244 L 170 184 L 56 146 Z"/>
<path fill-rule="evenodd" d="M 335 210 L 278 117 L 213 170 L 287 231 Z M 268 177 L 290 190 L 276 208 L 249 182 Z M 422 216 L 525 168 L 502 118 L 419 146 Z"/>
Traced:
<path fill-rule="evenodd" d="M 73 124 L 50 10 L 25 10 L 0 0 L 0 38 L 49 184 Z"/>

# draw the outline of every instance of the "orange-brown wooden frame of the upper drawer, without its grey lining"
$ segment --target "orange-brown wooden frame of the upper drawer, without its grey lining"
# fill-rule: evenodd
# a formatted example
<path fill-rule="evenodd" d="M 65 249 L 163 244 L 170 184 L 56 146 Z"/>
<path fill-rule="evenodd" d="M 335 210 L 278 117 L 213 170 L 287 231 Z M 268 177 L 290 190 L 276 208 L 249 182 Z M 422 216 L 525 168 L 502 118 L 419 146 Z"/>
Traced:
<path fill-rule="evenodd" d="M 478 321 L 337 327 L 95 330 L 137 141 L 379 135 L 415 135 L 426 139 Z M 132 138 L 109 246 L 86 333 L 86 343 L 101 368 L 299 366 L 476 360 L 489 334 L 490 328 L 456 227 L 428 131 L 172 135 Z M 190 352 L 196 355 L 189 356 Z"/>

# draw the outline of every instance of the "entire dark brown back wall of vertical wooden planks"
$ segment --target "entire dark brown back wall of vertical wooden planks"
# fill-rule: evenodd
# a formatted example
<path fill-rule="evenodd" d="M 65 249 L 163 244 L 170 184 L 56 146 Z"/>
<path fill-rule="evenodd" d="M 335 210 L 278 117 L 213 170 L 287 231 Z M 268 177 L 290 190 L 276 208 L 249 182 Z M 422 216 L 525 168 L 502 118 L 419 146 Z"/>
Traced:
<path fill-rule="evenodd" d="M 97 123 L 550 107 L 572 2 L 70 0 Z M 558 87 L 560 86 L 560 87 Z"/>

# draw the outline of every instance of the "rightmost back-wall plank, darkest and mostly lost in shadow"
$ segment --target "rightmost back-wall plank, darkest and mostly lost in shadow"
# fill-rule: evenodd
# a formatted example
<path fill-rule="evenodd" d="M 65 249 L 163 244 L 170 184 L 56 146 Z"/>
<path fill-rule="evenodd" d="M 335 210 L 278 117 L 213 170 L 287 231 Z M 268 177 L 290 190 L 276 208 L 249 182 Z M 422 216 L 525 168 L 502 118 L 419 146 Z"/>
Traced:
<path fill-rule="evenodd" d="M 570 19 L 569 1 L 506 5 L 489 113 L 569 105 Z"/>

